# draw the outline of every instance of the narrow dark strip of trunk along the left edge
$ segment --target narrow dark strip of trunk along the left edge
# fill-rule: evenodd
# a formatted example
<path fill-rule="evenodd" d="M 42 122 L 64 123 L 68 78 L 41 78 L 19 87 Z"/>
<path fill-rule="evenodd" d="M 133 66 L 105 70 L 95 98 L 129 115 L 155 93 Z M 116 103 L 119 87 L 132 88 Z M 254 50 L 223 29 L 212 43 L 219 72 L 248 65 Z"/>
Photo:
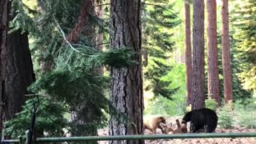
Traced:
<path fill-rule="evenodd" d="M 7 49 L 7 31 L 8 31 L 8 14 L 10 11 L 9 0 L 2 0 L 0 1 L 0 56 L 2 56 L 2 53 L 4 50 Z M 4 95 L 4 83 L 5 83 L 5 72 L 6 67 L 4 59 L 0 57 L 0 138 L 2 138 L 2 115 L 3 115 L 3 104 L 2 101 L 3 95 Z"/>

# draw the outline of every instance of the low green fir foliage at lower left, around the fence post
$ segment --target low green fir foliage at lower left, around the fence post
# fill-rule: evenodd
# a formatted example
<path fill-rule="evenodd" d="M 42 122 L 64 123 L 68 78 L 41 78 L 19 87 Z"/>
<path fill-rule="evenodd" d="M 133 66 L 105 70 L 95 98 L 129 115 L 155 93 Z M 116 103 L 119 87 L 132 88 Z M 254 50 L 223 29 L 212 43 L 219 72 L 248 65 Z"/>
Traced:
<path fill-rule="evenodd" d="M 44 96 L 27 100 L 26 105 L 22 106 L 22 111 L 10 121 L 5 122 L 5 134 L 14 139 L 20 135 L 26 137 L 25 132 L 31 125 L 34 103 L 38 105 L 35 121 L 36 134 L 37 132 L 45 132 L 52 137 L 61 137 L 63 135 L 62 129 L 67 126 L 67 120 L 63 118 L 66 109 L 62 103 L 53 102 Z"/>

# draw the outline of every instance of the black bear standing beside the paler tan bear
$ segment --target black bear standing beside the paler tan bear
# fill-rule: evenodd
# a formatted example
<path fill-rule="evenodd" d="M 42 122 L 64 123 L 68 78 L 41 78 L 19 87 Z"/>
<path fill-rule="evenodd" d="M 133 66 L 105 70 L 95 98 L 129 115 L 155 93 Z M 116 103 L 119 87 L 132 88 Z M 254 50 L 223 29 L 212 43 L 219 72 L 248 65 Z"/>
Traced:
<path fill-rule="evenodd" d="M 218 116 L 214 110 L 202 108 L 186 113 L 182 123 L 186 122 L 190 122 L 190 133 L 198 133 L 200 129 L 205 129 L 206 133 L 212 133 L 217 127 Z"/>

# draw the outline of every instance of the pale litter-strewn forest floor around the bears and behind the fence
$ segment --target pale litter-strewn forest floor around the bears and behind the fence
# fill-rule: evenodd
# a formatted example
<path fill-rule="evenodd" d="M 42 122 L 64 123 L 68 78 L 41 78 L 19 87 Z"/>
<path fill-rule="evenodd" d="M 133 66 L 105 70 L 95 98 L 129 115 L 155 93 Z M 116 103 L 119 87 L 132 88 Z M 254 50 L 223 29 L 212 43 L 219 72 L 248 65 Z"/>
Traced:
<path fill-rule="evenodd" d="M 180 121 L 182 120 L 182 117 L 171 117 L 171 118 L 166 118 L 167 123 L 172 123 L 174 126 L 174 129 L 176 129 L 177 124 L 175 122 L 176 119 L 179 119 Z M 188 130 L 189 130 L 189 125 L 188 125 Z M 239 126 L 234 126 L 231 129 L 222 129 L 222 128 L 217 128 L 215 130 L 216 133 L 253 133 L 256 132 L 255 129 L 245 129 Z M 150 130 L 145 130 L 145 134 L 150 134 Z M 157 134 L 162 134 L 161 130 L 157 130 Z M 100 129 L 98 130 L 98 135 L 99 136 L 107 136 L 108 135 L 108 129 Z M 100 144 L 103 143 L 108 143 L 108 142 L 98 142 Z M 256 143 L 256 138 L 186 138 L 186 139 L 160 139 L 160 140 L 146 140 L 146 144 L 225 144 L 225 143 L 234 143 L 234 144 L 249 144 L 249 143 Z"/>

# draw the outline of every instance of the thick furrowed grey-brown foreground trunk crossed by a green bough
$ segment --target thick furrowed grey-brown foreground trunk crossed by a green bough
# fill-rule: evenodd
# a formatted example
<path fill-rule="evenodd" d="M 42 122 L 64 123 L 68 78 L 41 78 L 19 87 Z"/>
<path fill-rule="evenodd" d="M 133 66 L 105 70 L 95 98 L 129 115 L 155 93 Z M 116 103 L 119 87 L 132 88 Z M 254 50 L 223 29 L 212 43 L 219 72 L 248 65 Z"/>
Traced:
<path fill-rule="evenodd" d="M 141 1 L 111 0 L 110 2 L 111 48 L 130 47 L 138 55 L 136 66 L 111 67 L 110 102 L 120 117 L 111 115 L 110 135 L 142 134 L 142 31 Z M 122 140 L 110 143 L 144 143 L 143 140 Z"/>

